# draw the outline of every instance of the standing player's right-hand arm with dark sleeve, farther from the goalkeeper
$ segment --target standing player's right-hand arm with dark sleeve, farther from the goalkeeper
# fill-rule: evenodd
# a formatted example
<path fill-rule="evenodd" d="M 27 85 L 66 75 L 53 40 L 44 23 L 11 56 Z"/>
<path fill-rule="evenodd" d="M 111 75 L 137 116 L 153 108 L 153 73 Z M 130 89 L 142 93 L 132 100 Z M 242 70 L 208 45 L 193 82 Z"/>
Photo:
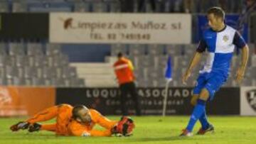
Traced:
<path fill-rule="evenodd" d="M 236 81 L 238 82 L 238 84 L 240 84 L 240 82 L 242 82 L 242 79 L 245 75 L 245 70 L 246 70 L 246 66 L 249 58 L 249 48 L 246 45 L 245 40 L 242 38 L 242 36 L 238 32 L 235 32 L 233 43 L 238 48 L 242 49 L 242 63 L 236 73 Z"/>

